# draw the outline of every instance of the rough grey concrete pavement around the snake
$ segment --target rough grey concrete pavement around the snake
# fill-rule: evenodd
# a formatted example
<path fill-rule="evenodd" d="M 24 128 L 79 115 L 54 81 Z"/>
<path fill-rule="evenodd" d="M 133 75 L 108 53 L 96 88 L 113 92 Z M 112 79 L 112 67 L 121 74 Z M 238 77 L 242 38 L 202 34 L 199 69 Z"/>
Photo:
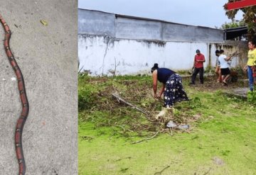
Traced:
<path fill-rule="evenodd" d="M 30 104 L 23 128 L 26 174 L 78 174 L 77 9 L 76 0 L 1 1 Z M 21 103 L 2 26 L 0 38 L 0 174 L 13 175 L 18 174 L 14 131 Z"/>

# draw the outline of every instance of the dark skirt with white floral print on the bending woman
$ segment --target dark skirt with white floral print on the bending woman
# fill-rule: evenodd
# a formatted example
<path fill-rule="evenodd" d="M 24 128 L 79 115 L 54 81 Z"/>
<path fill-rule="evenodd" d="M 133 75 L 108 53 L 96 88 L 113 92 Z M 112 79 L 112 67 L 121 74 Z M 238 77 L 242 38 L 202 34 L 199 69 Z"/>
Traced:
<path fill-rule="evenodd" d="M 183 89 L 181 76 L 179 74 L 172 74 L 166 81 L 164 106 L 169 108 L 177 101 L 188 101 L 188 96 Z"/>

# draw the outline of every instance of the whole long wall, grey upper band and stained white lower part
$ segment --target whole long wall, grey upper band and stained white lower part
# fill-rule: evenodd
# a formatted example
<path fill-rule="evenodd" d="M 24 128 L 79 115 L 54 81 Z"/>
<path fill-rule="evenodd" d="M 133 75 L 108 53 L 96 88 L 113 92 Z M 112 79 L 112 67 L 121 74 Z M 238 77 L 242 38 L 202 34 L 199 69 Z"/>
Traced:
<path fill-rule="evenodd" d="M 81 71 L 92 75 L 148 74 L 160 67 L 187 70 L 196 50 L 205 55 L 205 67 L 215 67 L 215 50 L 231 54 L 239 43 L 225 43 L 223 30 L 188 26 L 102 11 L 78 9 L 78 57 Z M 233 59 L 233 67 L 241 62 Z"/>

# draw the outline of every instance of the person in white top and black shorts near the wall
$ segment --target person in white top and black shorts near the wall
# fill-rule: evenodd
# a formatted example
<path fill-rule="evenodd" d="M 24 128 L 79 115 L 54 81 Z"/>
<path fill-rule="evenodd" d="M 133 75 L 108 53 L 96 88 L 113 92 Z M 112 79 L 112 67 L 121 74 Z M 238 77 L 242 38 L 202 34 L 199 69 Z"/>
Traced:
<path fill-rule="evenodd" d="M 223 79 L 223 85 L 228 85 L 227 80 L 230 77 L 230 65 L 228 64 L 228 61 L 231 60 L 232 57 L 227 57 L 224 55 L 224 50 L 220 50 L 220 56 L 218 57 L 218 60 L 220 62 L 220 72 L 221 77 Z"/>

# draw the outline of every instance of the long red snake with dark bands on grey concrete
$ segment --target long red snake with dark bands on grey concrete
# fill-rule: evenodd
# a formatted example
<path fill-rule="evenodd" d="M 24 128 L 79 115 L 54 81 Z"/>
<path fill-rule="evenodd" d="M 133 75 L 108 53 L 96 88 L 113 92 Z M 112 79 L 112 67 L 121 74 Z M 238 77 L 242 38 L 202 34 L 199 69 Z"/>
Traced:
<path fill-rule="evenodd" d="M 18 175 L 24 175 L 26 172 L 26 164 L 25 164 L 25 159 L 24 159 L 23 149 L 22 149 L 22 130 L 23 130 L 23 126 L 25 125 L 26 118 L 28 117 L 28 111 L 29 111 L 28 98 L 26 96 L 25 82 L 23 79 L 23 75 L 21 73 L 21 69 L 18 67 L 14 54 L 11 52 L 11 48 L 9 45 L 10 38 L 11 38 L 11 30 L 7 25 L 6 21 L 4 20 L 4 18 L 1 16 L 1 14 L 0 14 L 0 21 L 5 31 L 4 50 L 6 52 L 7 57 L 9 58 L 11 67 L 14 69 L 14 72 L 16 74 L 16 78 L 18 80 L 18 91 L 21 98 L 22 111 L 16 123 L 14 142 L 15 142 L 15 148 L 16 148 L 16 157 L 18 159 L 18 168 L 19 168 Z"/>

